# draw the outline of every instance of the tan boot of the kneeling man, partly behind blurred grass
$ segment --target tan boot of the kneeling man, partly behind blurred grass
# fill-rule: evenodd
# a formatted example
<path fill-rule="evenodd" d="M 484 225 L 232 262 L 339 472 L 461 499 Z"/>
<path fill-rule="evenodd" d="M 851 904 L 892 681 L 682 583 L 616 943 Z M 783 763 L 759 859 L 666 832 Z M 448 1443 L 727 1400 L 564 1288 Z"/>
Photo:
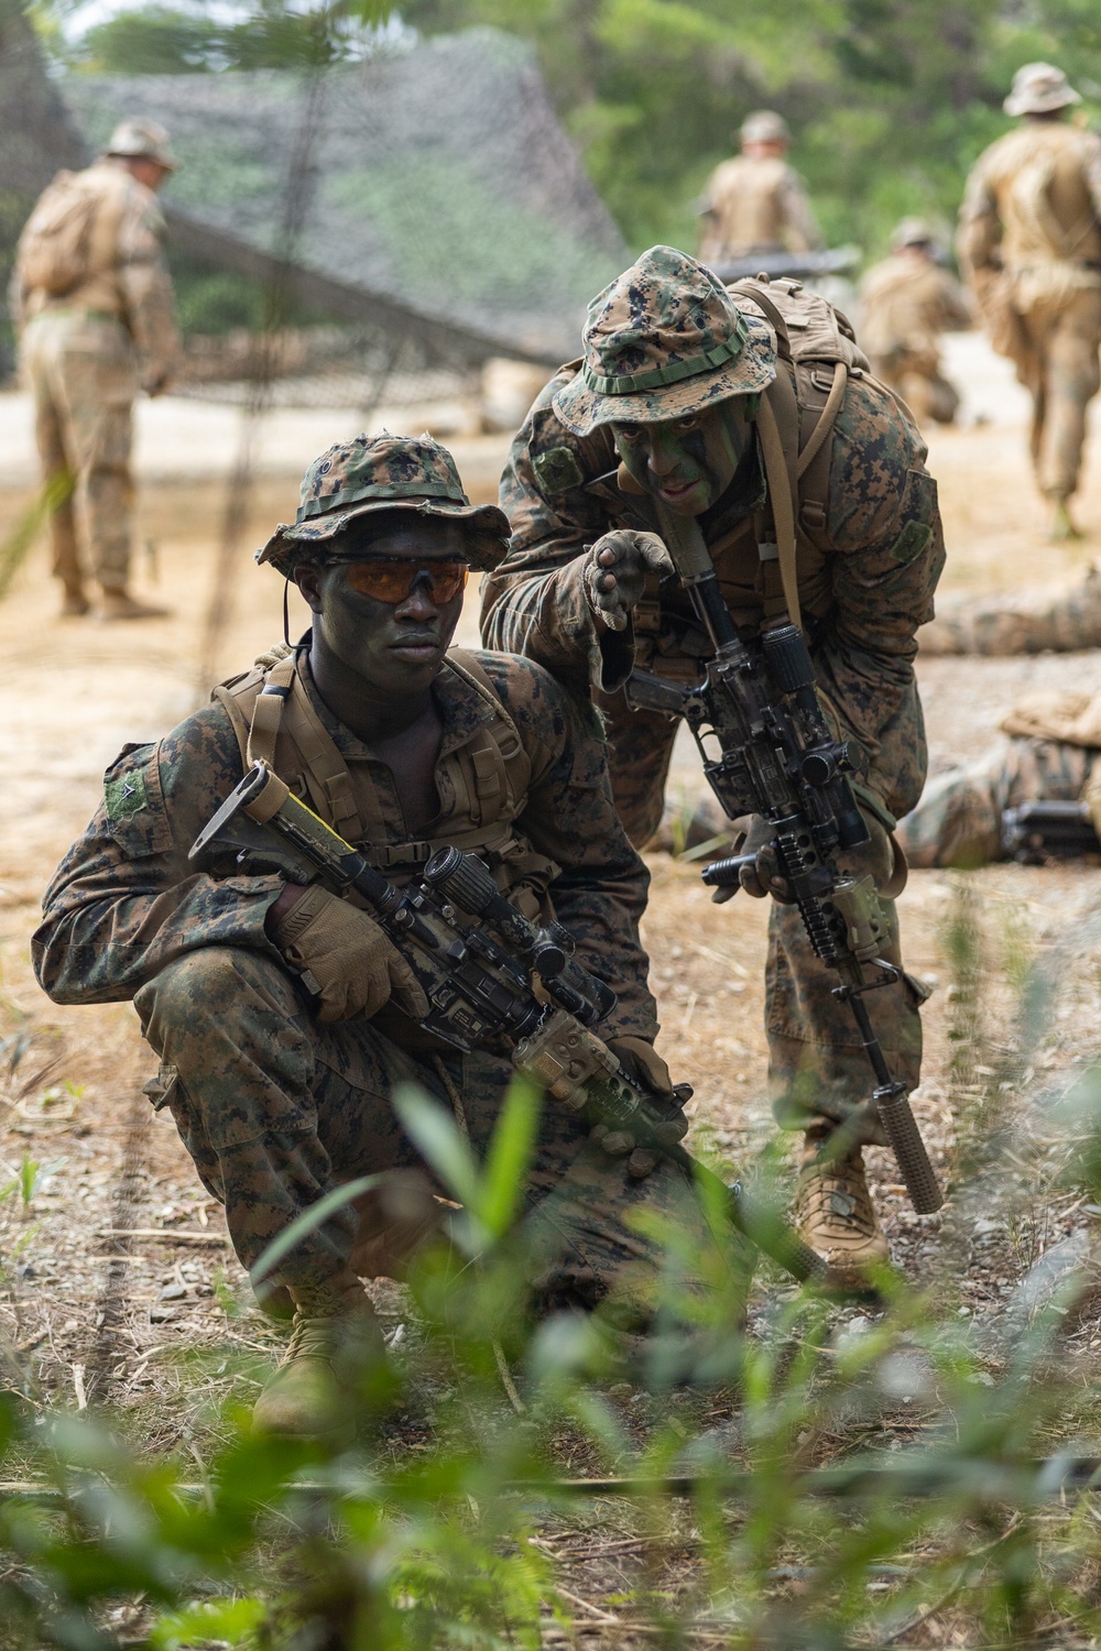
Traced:
<path fill-rule="evenodd" d="M 256 1400 L 253 1426 L 258 1433 L 348 1443 L 355 1436 L 357 1377 L 385 1357 L 375 1309 L 358 1280 L 291 1294 L 291 1342 Z"/>

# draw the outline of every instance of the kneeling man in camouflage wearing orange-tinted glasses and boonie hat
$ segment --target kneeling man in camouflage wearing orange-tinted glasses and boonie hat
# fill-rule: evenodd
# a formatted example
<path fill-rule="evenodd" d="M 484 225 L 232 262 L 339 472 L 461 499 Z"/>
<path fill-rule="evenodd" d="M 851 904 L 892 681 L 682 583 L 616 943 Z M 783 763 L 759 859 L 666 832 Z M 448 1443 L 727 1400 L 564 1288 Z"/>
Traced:
<path fill-rule="evenodd" d="M 312 631 L 158 745 L 125 746 L 46 890 L 41 984 L 58 1002 L 134 999 L 162 1058 L 149 1095 L 224 1204 L 244 1266 L 333 1182 L 395 1167 L 408 1180 L 419 1161 L 390 1105 L 398 1083 L 454 1106 L 482 1151 L 512 1075 L 505 1055 L 461 1055 L 421 1027 L 424 994 L 366 911 L 233 860 L 226 877 L 196 872 L 188 849 L 251 759 L 398 883 L 459 845 L 525 915 L 550 916 L 553 900 L 578 959 L 617 992 L 598 1034 L 675 1106 L 637 939 L 649 878 L 616 817 L 596 720 L 530 660 L 447 652 L 467 570 L 492 568 L 507 532 L 497 507 L 467 502 L 428 436 L 330 447 L 305 474 L 295 525 L 259 553 L 297 581 Z M 543 1108 L 528 1276 L 545 1309 L 611 1298 L 637 1324 L 659 1251 L 631 1207 L 683 1225 L 692 1204 L 667 1159 L 622 1133 L 593 1136 L 566 1108 Z M 423 1184 L 396 1217 L 368 1199 L 287 1256 L 274 1276 L 295 1334 L 258 1423 L 342 1428 L 342 1347 L 378 1351 L 358 1278 L 393 1276 L 434 1213 Z"/>

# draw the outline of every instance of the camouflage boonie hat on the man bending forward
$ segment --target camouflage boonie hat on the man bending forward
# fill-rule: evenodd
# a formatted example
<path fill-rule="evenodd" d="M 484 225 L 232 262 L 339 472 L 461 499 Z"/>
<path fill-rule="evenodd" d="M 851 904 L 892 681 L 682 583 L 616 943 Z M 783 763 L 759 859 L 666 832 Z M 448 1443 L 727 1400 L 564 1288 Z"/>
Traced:
<path fill-rule="evenodd" d="M 581 368 L 553 403 L 574 436 L 685 418 L 776 378 L 771 329 L 672 246 L 652 246 L 593 299 L 581 340 Z"/>

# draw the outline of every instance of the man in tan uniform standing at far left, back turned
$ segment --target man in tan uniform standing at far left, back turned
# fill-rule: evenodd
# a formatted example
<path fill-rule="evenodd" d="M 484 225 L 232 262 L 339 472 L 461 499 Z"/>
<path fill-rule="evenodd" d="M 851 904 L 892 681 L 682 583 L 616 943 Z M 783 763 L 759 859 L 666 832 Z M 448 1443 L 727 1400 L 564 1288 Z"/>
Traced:
<path fill-rule="evenodd" d="M 89 573 L 106 619 L 163 613 L 127 588 L 130 446 L 134 398 L 160 395 L 180 352 L 155 198 L 175 165 L 163 127 L 124 121 L 92 167 L 58 173 L 20 239 L 12 314 L 66 616 L 89 611 Z"/>

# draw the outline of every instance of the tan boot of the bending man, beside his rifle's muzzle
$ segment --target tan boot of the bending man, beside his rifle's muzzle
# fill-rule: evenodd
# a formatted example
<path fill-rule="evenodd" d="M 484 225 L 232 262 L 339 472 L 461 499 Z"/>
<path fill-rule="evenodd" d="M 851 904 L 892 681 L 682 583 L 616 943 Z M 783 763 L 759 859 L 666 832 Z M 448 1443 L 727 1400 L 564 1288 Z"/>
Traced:
<path fill-rule="evenodd" d="M 868 1266 L 890 1261 L 858 1146 L 843 1157 L 822 1161 L 829 1136 L 807 1133 L 796 1184 L 796 1227 L 804 1243 L 829 1263 L 830 1283 L 843 1289 L 868 1288 Z"/>

